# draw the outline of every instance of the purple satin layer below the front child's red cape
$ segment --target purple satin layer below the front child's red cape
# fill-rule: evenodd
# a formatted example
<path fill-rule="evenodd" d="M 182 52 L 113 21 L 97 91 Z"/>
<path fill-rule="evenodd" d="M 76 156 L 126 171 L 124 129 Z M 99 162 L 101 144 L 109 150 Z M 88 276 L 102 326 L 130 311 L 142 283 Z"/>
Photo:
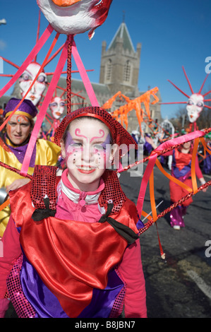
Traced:
<path fill-rule="evenodd" d="M 37 271 L 24 254 L 20 283 L 25 297 L 37 312 L 35 318 L 69 318 L 55 295 L 42 283 Z M 123 282 L 119 276 L 114 270 L 110 271 L 107 287 L 104 290 L 93 290 L 92 301 L 78 318 L 108 318 L 122 287 Z"/>

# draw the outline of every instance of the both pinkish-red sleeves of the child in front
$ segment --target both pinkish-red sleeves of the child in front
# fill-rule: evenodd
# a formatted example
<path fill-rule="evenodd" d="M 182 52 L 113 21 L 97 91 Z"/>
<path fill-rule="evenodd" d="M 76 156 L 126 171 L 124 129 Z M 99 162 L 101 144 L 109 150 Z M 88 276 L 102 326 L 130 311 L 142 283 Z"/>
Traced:
<path fill-rule="evenodd" d="M 10 257 L 7 256 L 6 260 L 6 257 L 4 259 L 0 258 L 0 308 L 2 317 L 4 317 L 4 313 L 8 309 L 8 301 L 4 299 L 6 278 L 11 271 L 13 261 L 21 254 L 19 233 L 12 218 L 10 218 L 6 232 L 4 232 L 4 247 L 6 252 L 10 254 Z M 139 240 L 126 249 L 118 269 L 127 285 L 124 309 L 126 318 L 147 317 L 145 278 L 141 263 Z"/>

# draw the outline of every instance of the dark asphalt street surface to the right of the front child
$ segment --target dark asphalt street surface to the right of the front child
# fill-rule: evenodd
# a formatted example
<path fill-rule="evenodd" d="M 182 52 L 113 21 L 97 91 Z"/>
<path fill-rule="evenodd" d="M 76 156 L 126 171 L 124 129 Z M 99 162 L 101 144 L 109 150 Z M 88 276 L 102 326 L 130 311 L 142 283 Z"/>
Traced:
<path fill-rule="evenodd" d="M 134 177 L 134 172 L 121 173 L 119 180 L 128 198 L 136 203 L 142 177 Z M 158 214 L 171 205 L 169 179 L 156 166 L 154 174 L 155 202 L 163 200 L 157 208 Z M 205 176 L 205 179 L 208 181 L 210 177 Z M 151 211 L 148 188 L 143 211 Z M 193 203 L 184 218 L 186 227 L 174 230 L 169 225 L 168 213 L 157 220 L 157 227 L 153 224 L 140 235 L 149 318 L 211 317 L 210 213 L 209 187 L 206 193 L 200 191 L 193 196 Z M 159 253 L 157 229 L 166 260 Z"/>

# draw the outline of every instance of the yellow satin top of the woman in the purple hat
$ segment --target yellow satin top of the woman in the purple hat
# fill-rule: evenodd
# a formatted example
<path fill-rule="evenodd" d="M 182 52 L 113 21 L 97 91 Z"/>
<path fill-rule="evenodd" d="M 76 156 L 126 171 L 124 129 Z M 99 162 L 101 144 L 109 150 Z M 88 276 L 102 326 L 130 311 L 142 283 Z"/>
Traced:
<path fill-rule="evenodd" d="M 56 165 L 61 148 L 50 141 L 45 141 L 44 139 L 38 139 L 36 145 L 35 165 Z M 2 146 L 0 146 L 0 160 L 6 165 L 15 167 L 17 170 L 21 169 L 22 164 L 18 161 L 16 155 L 12 152 L 7 152 Z M 33 167 L 29 167 L 28 174 L 32 174 L 33 170 Z M 0 166 L 0 188 L 6 187 L 16 179 L 21 178 L 23 179 L 19 174 L 6 170 L 6 168 Z M 0 211 L 0 237 L 4 234 L 9 216 L 10 208 L 9 206 L 6 206 L 6 208 Z"/>

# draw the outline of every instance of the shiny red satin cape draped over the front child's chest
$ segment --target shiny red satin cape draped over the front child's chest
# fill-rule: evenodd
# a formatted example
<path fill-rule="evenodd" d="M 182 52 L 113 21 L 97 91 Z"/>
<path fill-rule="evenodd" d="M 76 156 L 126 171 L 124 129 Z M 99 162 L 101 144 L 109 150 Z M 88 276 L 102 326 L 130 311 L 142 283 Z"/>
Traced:
<path fill-rule="evenodd" d="M 18 220 L 20 214 L 24 215 L 21 246 L 66 314 L 76 317 L 90 303 L 92 287 L 106 287 L 107 273 L 121 261 L 127 242 L 108 223 L 77 223 L 73 220 L 67 223 L 57 218 L 35 223 L 30 218 L 34 211 L 30 206 L 30 191 L 25 189 L 26 186 L 11 194 L 14 220 Z M 21 202 L 18 208 L 17 198 Z M 135 231 L 134 220 L 127 212 L 133 209 L 133 203 L 127 200 L 121 213 L 113 215 L 113 218 Z"/>

